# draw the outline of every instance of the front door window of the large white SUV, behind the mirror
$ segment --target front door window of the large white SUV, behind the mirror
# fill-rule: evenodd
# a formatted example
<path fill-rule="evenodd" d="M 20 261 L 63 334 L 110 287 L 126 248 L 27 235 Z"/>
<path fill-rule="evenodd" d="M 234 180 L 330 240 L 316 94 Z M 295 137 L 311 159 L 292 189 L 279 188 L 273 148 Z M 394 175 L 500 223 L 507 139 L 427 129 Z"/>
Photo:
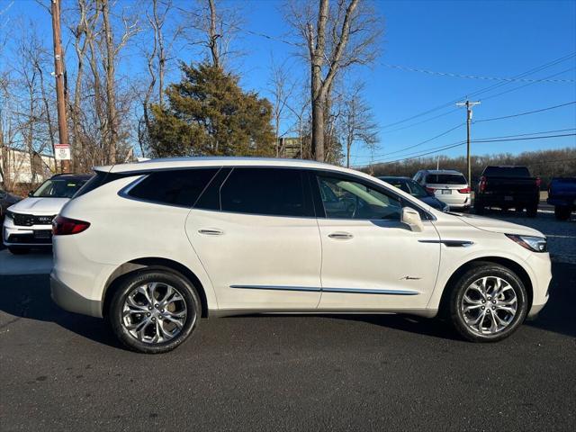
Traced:
<path fill-rule="evenodd" d="M 401 202 L 365 184 L 318 176 L 320 196 L 329 219 L 400 220 Z"/>

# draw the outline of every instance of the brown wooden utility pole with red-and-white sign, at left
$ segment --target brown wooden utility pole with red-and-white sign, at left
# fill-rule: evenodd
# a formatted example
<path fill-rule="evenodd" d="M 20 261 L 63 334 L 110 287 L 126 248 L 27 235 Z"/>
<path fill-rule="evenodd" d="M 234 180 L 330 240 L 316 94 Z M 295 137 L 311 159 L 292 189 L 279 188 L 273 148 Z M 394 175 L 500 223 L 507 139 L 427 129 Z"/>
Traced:
<path fill-rule="evenodd" d="M 60 145 L 69 146 L 66 100 L 64 98 L 64 55 L 62 53 L 62 32 L 60 30 L 60 0 L 52 0 L 52 35 L 54 39 L 54 74 L 56 76 L 56 104 L 58 107 L 58 138 Z M 70 172 L 70 160 L 62 160 L 63 173 Z"/>

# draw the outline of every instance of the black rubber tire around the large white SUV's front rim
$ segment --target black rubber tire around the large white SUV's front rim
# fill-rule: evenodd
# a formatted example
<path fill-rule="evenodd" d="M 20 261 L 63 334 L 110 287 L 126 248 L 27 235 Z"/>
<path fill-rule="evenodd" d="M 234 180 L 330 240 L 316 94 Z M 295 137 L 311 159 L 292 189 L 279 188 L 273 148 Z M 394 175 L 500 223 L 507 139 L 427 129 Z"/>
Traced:
<path fill-rule="evenodd" d="M 504 329 L 500 329 L 493 334 L 481 334 L 480 332 L 472 329 L 466 323 L 464 319 L 464 312 L 462 311 L 461 304 L 463 302 L 463 297 L 466 289 L 470 287 L 475 281 L 482 279 L 482 277 L 499 277 L 500 279 L 507 282 L 514 294 L 516 294 L 517 299 L 517 311 L 516 315 L 509 321 L 509 324 Z M 490 303 L 490 301 L 488 301 Z M 518 327 L 524 322 L 527 315 L 527 292 L 524 284 L 514 272 L 505 266 L 500 266 L 494 263 L 481 262 L 476 266 L 471 267 L 469 270 L 464 272 L 464 275 L 458 278 L 452 287 L 452 291 L 449 296 L 449 315 L 450 320 L 460 335 L 463 338 L 470 340 L 472 342 L 497 342 L 504 338 L 508 338 L 512 333 L 514 333 Z M 488 308 L 491 309 L 491 308 Z M 486 312 L 495 313 L 486 310 Z M 482 313 L 482 312 L 481 312 Z M 499 315 L 500 316 L 500 315 Z M 489 321 L 490 321 L 489 317 Z M 482 323 L 485 322 L 482 320 Z"/>

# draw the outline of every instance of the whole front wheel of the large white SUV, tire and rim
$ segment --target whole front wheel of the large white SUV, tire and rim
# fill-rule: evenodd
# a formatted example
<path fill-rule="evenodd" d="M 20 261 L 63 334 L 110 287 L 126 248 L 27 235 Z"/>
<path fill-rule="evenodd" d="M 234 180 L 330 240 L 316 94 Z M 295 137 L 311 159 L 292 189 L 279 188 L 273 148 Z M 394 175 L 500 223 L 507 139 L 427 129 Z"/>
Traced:
<path fill-rule="evenodd" d="M 450 296 L 455 329 L 473 342 L 508 338 L 527 314 L 524 284 L 509 268 L 479 263 L 464 273 Z"/>

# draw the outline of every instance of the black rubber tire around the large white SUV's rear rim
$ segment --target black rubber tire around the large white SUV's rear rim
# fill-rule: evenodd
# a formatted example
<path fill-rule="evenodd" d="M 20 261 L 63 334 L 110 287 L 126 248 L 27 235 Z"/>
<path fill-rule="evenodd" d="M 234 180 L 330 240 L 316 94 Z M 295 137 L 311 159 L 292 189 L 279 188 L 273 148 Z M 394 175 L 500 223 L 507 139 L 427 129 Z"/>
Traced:
<path fill-rule="evenodd" d="M 128 295 L 140 285 L 159 283 L 160 286 L 170 285 L 181 294 L 185 308 L 186 317 L 182 329 L 174 338 L 164 342 L 144 342 L 132 336 L 130 331 L 124 327 L 122 310 Z M 184 342 L 197 327 L 202 316 L 202 303 L 193 284 L 182 275 L 165 269 L 144 269 L 126 275 L 122 278 L 121 284 L 112 295 L 112 301 L 107 314 L 107 320 L 116 338 L 121 343 L 133 351 L 144 354 L 161 354 L 173 350 Z M 166 322 L 166 321 L 165 321 Z"/>

